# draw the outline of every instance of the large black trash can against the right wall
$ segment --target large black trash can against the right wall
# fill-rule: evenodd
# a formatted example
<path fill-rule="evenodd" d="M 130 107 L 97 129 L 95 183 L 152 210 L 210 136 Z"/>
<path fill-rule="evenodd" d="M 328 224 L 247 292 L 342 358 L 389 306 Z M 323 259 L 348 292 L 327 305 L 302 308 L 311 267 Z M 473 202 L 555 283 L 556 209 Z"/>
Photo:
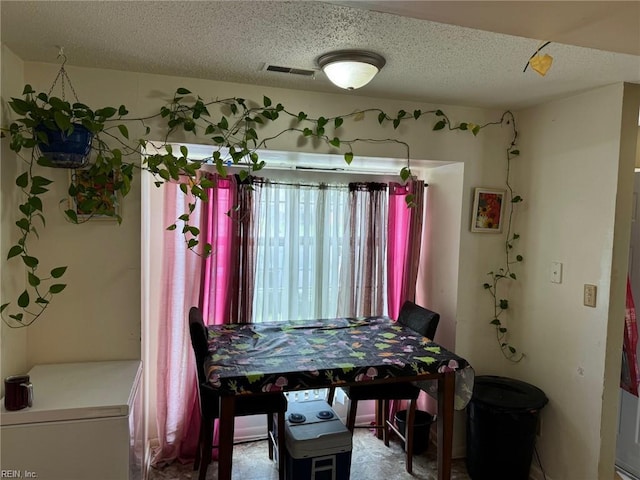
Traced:
<path fill-rule="evenodd" d="M 467 471 L 472 480 L 528 480 L 538 416 L 548 402 L 525 382 L 475 378 L 467 406 Z"/>

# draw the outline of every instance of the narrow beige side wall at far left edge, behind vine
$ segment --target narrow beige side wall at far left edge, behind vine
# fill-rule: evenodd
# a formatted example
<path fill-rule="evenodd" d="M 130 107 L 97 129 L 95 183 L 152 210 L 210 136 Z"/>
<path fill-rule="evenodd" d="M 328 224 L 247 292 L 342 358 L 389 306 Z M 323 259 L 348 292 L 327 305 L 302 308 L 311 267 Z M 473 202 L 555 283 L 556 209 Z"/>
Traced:
<path fill-rule="evenodd" d="M 11 97 L 19 97 L 24 87 L 22 61 L 11 50 L 0 44 L 2 59 L 2 96 L 0 99 L 0 125 L 3 127 L 11 123 L 11 110 L 7 104 Z M 22 270 L 13 268 L 5 261 L 6 253 L 18 239 L 17 231 L 12 228 L 18 220 L 17 206 L 21 202 L 20 193 L 15 187 L 18 172 L 23 171 L 23 165 L 16 155 L 9 150 L 8 143 L 0 143 L 0 275 L 2 287 L 0 290 L 0 304 L 13 301 L 24 289 L 25 277 Z M 13 259 L 13 264 L 20 262 L 20 258 Z M 28 371 L 27 365 L 27 330 L 9 328 L 4 322 L 0 327 L 0 376 L 18 375 Z M 4 395 L 4 382 L 2 382 Z"/>

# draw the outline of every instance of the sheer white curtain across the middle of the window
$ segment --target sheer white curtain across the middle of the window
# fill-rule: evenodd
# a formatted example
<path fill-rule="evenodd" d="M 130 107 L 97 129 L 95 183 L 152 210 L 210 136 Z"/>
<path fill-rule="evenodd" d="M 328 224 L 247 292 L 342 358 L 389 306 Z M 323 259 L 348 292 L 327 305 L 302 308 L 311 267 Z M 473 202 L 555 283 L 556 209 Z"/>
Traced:
<path fill-rule="evenodd" d="M 263 181 L 253 321 L 335 318 L 348 187 Z"/>

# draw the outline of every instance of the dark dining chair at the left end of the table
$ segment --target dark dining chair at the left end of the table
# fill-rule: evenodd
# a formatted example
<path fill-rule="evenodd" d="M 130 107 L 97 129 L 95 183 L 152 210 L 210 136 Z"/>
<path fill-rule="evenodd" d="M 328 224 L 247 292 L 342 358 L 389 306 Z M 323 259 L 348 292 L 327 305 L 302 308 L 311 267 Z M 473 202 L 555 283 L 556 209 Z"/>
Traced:
<path fill-rule="evenodd" d="M 204 371 L 204 363 L 209 354 L 207 328 L 204 325 L 202 313 L 197 307 L 189 310 L 189 334 L 196 359 L 198 376 L 198 394 L 200 400 L 200 434 L 198 449 L 193 463 L 194 470 L 200 470 L 198 480 L 205 480 L 207 468 L 211 463 L 213 445 L 214 421 L 220 416 L 220 395 L 208 383 Z M 236 396 L 235 415 L 266 415 L 269 441 L 269 459 L 273 460 L 274 446 L 278 456 L 278 479 L 285 478 L 285 414 L 287 398 L 283 393 L 266 393 L 264 395 Z M 273 418 L 277 421 L 277 434 L 274 431 Z M 219 459 L 218 461 L 224 461 Z"/>

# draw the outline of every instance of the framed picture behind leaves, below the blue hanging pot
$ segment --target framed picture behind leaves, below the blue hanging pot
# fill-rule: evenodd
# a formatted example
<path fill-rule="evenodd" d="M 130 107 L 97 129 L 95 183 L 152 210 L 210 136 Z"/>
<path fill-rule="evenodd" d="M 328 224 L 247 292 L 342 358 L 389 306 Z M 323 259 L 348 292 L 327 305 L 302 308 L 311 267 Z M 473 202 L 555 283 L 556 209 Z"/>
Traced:
<path fill-rule="evenodd" d="M 69 196 L 69 208 L 76 212 L 78 221 L 88 219 L 118 220 L 122 215 L 120 201 L 114 193 L 113 173 L 102 184 L 96 184 L 88 176 L 87 170 L 69 170 L 70 186 L 77 189 L 76 197 Z M 83 192 L 87 192 L 94 200 L 91 211 L 82 209 Z M 95 212 L 95 213 L 92 213 Z"/>

